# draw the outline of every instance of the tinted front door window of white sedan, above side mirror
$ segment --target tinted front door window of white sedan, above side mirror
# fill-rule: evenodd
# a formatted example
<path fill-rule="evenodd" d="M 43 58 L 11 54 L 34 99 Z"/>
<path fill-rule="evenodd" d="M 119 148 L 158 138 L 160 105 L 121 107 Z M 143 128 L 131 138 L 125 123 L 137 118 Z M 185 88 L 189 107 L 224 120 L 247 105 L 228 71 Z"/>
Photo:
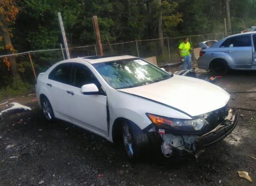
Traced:
<path fill-rule="evenodd" d="M 83 64 L 74 64 L 72 69 L 72 85 L 81 88 L 85 84 L 99 85 L 98 80 L 92 71 Z M 99 87 L 99 86 L 98 86 Z"/>

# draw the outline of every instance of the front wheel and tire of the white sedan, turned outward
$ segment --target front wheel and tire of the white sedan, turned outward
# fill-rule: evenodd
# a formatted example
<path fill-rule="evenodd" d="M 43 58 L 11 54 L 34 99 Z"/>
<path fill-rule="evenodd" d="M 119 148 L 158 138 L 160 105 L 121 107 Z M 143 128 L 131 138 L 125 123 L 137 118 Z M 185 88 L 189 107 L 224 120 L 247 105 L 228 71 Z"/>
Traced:
<path fill-rule="evenodd" d="M 130 159 L 142 158 L 150 149 L 148 134 L 129 120 L 124 120 L 122 127 L 124 147 L 128 157 Z"/>

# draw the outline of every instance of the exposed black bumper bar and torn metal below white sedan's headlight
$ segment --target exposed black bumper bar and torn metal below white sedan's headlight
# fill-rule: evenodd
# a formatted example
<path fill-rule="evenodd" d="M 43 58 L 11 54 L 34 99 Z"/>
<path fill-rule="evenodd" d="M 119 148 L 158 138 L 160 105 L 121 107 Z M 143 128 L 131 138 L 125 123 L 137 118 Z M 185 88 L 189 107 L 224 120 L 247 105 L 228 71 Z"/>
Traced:
<path fill-rule="evenodd" d="M 229 109 L 228 116 L 212 130 L 200 135 L 165 133 L 162 138 L 162 152 L 165 156 L 195 154 L 198 157 L 205 148 L 222 140 L 230 134 L 238 123 L 238 112 Z"/>

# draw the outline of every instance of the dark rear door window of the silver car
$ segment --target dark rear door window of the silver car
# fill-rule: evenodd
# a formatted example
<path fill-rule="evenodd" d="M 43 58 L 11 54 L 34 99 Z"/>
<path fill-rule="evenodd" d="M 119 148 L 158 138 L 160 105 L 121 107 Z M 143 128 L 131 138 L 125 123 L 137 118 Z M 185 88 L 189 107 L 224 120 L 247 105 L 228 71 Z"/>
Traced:
<path fill-rule="evenodd" d="M 250 35 L 236 36 L 226 39 L 220 47 L 244 47 L 252 46 Z"/>

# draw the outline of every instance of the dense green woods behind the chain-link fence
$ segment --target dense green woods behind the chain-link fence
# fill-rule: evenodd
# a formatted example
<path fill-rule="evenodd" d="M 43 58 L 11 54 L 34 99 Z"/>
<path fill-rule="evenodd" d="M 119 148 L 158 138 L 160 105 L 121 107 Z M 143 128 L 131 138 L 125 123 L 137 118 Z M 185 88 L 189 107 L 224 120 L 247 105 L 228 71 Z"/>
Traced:
<path fill-rule="evenodd" d="M 59 48 L 62 36 L 57 13 L 61 12 L 69 46 L 95 44 L 92 16 L 98 16 L 103 44 L 158 38 L 158 16 L 162 12 L 164 37 L 224 32 L 224 0 L 19 0 L 19 12 L 12 25 L 12 44 L 16 52 Z M 256 24 L 256 0 L 230 0 L 232 31 L 240 32 Z M 207 38 L 192 38 L 194 47 Z M 219 38 L 218 38 L 219 39 Z M 166 42 L 166 41 L 165 41 Z M 170 40 L 171 53 L 181 41 Z M 3 46 L 0 40 L 0 46 Z M 165 43 L 165 46 L 166 43 Z M 103 46 L 110 54 L 108 46 Z M 137 55 L 136 44 L 112 46 L 119 54 Z M 158 62 L 168 61 L 166 48 L 158 56 L 158 42 L 139 43 L 141 57 L 157 56 Z M 0 54 L 5 51 L 0 50 Z M 94 54 L 94 48 L 70 50 L 76 54 Z M 80 53 L 78 53 L 80 52 Z M 172 57 L 173 55 L 171 55 Z M 28 56 L 17 59 L 24 82 L 34 83 Z M 62 60 L 60 51 L 32 54 L 36 74 Z M 12 83 L 11 74 L 0 62 L 0 88 Z"/>

